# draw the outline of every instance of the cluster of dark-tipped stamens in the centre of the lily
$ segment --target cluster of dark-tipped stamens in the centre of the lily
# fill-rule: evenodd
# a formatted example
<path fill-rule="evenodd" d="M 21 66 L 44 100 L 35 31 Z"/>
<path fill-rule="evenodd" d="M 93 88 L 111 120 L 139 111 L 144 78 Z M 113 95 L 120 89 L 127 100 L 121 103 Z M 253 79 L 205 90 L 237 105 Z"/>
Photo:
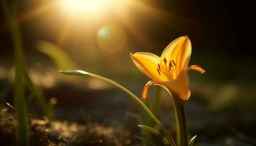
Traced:
<path fill-rule="evenodd" d="M 176 63 L 173 60 L 167 62 L 166 58 L 164 58 L 163 61 L 165 63 L 165 69 L 161 70 L 160 64 L 157 64 L 157 72 L 158 72 L 159 76 L 161 76 L 161 73 L 163 73 L 163 74 L 166 73 L 167 76 L 170 77 L 176 69 Z"/>

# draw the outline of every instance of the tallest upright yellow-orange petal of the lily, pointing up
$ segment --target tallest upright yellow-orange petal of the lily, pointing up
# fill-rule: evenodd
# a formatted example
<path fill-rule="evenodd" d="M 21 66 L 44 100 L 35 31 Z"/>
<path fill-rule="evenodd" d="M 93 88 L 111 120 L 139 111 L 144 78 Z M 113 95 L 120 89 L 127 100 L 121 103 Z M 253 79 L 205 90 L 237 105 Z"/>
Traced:
<path fill-rule="evenodd" d="M 183 69 L 187 69 L 189 59 L 191 55 L 192 47 L 189 37 L 178 37 L 165 48 L 161 55 L 161 66 L 165 65 L 163 61 L 165 58 L 167 63 L 174 61 L 176 63 L 175 73 L 172 74 L 172 78 L 175 79 L 179 72 Z"/>

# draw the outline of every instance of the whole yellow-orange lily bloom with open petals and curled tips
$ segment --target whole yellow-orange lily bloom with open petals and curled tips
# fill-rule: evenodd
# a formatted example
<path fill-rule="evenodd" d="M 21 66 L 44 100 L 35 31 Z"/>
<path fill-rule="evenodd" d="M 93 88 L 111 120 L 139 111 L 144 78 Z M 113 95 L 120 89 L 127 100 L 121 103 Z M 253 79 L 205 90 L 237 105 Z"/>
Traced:
<path fill-rule="evenodd" d="M 143 89 L 143 99 L 146 99 L 151 85 L 160 85 L 169 93 L 178 94 L 181 99 L 189 99 L 188 71 L 195 70 L 201 74 L 205 72 L 200 66 L 188 66 L 191 51 L 191 42 L 185 36 L 170 42 L 161 57 L 152 53 L 131 53 L 132 61 L 138 69 L 152 79 Z"/>

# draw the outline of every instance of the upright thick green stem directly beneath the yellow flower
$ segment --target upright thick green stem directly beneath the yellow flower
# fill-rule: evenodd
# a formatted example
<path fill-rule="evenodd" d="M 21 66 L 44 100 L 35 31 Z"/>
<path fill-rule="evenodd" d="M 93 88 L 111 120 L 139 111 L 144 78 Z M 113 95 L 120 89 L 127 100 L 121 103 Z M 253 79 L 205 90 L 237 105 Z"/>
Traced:
<path fill-rule="evenodd" d="M 187 123 L 184 113 L 184 101 L 180 97 L 173 93 L 173 108 L 176 118 L 176 134 L 177 145 L 188 146 L 187 142 Z"/>

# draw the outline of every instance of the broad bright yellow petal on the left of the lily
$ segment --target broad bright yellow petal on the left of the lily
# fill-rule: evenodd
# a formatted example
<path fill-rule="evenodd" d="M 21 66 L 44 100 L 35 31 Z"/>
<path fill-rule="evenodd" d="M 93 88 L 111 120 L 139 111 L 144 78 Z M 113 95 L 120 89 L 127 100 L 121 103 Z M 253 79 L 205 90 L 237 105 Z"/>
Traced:
<path fill-rule="evenodd" d="M 152 80 L 166 81 L 164 74 L 157 71 L 159 64 L 159 56 L 152 53 L 131 53 L 132 61 L 140 69 L 141 72 L 146 74 Z"/>

